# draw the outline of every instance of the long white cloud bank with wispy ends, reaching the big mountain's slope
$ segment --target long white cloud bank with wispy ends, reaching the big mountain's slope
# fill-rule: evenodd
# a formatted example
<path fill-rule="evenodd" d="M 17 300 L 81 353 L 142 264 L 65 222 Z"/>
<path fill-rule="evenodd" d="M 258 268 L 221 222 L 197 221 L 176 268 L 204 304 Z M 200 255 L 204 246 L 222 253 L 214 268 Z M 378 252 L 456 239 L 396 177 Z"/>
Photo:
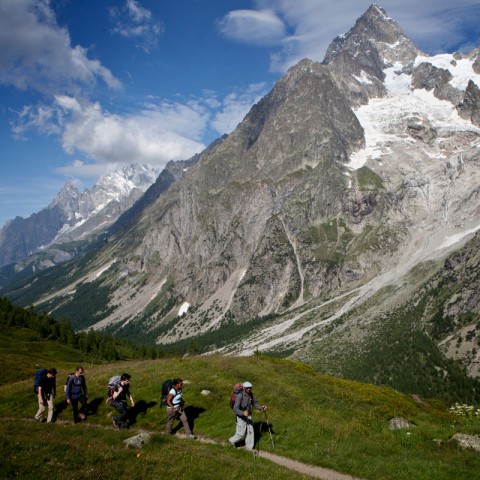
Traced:
<path fill-rule="evenodd" d="M 91 177 L 134 162 L 162 168 L 170 160 L 201 152 L 207 130 L 219 135 L 232 132 L 266 90 L 263 83 L 253 84 L 223 99 L 205 91 L 202 98 L 183 103 L 150 97 L 127 113 L 58 95 L 51 105 L 24 107 L 13 131 L 18 139 L 30 130 L 55 135 L 68 155 L 84 156 L 56 170 L 68 176 Z"/>

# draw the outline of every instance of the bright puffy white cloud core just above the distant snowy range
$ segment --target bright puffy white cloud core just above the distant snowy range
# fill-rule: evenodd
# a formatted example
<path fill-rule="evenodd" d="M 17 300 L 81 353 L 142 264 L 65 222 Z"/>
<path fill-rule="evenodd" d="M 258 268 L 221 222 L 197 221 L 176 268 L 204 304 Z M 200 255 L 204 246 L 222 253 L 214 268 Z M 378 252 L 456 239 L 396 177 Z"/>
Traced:
<path fill-rule="evenodd" d="M 81 152 L 96 163 L 165 165 L 186 159 L 205 146 L 196 141 L 206 124 L 205 112 L 195 105 L 162 103 L 128 115 L 101 109 L 98 103 L 80 105 L 59 97 L 70 115 L 62 144 L 69 154 Z"/>

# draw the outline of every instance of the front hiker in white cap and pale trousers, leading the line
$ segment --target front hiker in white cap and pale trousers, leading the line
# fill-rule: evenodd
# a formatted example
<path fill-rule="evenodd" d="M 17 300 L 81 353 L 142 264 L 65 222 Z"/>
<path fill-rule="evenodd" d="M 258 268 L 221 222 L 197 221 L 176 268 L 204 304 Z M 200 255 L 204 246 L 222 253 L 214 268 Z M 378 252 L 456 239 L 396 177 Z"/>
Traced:
<path fill-rule="evenodd" d="M 257 410 L 265 411 L 267 407 L 260 405 L 252 393 L 252 384 L 244 382 L 242 390 L 235 394 L 235 403 L 233 405 L 233 412 L 236 416 L 236 430 L 235 435 L 230 437 L 228 441 L 234 447 L 237 443 L 245 437 L 245 448 L 253 450 L 255 445 L 253 422 L 252 422 L 252 406 Z"/>

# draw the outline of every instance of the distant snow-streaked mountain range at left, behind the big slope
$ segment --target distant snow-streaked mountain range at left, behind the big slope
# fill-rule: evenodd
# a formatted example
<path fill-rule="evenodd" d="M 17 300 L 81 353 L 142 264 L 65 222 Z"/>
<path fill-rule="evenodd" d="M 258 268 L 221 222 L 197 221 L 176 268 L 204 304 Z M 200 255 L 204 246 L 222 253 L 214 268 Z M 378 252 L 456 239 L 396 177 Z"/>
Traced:
<path fill-rule="evenodd" d="M 101 177 L 83 193 L 66 183 L 47 208 L 28 218 L 17 217 L 2 228 L 0 266 L 15 263 L 21 270 L 22 261 L 53 244 L 57 246 L 50 250 L 48 260 L 42 260 L 44 267 L 72 258 L 71 252 L 58 245 L 86 238 L 92 241 L 128 210 L 157 176 L 158 171 L 151 167 L 131 165 Z M 42 263 L 37 266 L 42 268 Z"/>

